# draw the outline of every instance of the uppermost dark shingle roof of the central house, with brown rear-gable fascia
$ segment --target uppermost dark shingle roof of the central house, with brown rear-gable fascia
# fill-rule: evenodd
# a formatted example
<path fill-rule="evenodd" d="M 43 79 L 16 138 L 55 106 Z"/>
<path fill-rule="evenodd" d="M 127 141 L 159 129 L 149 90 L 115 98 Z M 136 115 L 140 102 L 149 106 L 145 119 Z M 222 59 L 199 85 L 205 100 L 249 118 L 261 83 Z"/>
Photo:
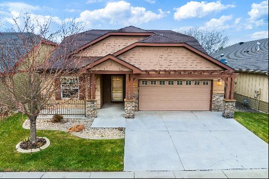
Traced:
<path fill-rule="evenodd" d="M 129 34 L 128 34 L 129 33 Z M 124 28 L 120 28 L 117 30 L 97 30 L 92 29 L 88 30 L 79 34 L 75 34 L 72 36 L 68 36 L 64 38 L 64 40 L 61 42 L 60 46 L 68 46 L 70 44 L 70 41 L 72 41 L 72 46 L 70 48 L 61 50 L 61 48 L 57 49 L 58 51 L 65 51 L 69 55 L 76 53 L 77 51 L 92 45 L 104 38 L 107 38 L 110 35 L 135 35 L 135 33 L 139 33 L 139 35 L 144 36 L 151 36 L 151 35 L 160 35 L 162 34 L 164 37 L 174 39 L 179 42 L 184 42 L 188 45 L 193 46 L 194 48 L 202 51 L 203 53 L 206 53 L 202 45 L 191 36 L 184 35 L 178 32 L 174 32 L 172 30 L 145 30 L 134 26 L 128 26 Z M 140 34 L 141 33 L 141 34 Z M 137 35 L 137 34 L 136 34 Z M 161 43 L 161 42 L 160 42 Z M 67 51 L 66 51 L 67 50 Z M 59 52 L 58 52 L 59 53 Z M 63 54 L 65 55 L 65 54 Z"/>

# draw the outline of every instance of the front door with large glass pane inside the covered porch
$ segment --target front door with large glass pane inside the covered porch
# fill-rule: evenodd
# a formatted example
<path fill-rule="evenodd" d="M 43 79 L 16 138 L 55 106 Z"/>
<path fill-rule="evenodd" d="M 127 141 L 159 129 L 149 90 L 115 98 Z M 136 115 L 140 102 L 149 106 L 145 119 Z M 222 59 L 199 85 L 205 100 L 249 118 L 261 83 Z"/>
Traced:
<path fill-rule="evenodd" d="M 123 101 L 123 76 L 111 76 L 112 101 Z"/>

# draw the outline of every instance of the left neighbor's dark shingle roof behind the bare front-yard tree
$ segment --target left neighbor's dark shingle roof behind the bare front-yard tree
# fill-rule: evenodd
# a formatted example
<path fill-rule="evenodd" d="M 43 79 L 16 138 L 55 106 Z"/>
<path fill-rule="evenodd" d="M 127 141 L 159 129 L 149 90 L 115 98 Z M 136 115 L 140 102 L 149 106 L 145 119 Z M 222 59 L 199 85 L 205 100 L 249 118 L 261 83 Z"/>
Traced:
<path fill-rule="evenodd" d="M 30 32 L 0 32 L 0 71 L 3 67 L 11 69 L 31 52 L 32 45 L 37 47 L 40 43 L 56 45 L 44 38 L 39 38 Z"/>

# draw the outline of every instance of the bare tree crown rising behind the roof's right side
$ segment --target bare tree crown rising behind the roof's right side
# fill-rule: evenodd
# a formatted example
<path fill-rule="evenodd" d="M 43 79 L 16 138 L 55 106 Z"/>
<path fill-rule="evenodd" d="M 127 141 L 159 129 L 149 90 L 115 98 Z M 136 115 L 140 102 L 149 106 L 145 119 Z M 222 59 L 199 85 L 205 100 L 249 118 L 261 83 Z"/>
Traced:
<path fill-rule="evenodd" d="M 179 33 L 196 38 L 209 55 L 224 48 L 229 42 L 224 31 L 188 28 L 179 31 Z"/>

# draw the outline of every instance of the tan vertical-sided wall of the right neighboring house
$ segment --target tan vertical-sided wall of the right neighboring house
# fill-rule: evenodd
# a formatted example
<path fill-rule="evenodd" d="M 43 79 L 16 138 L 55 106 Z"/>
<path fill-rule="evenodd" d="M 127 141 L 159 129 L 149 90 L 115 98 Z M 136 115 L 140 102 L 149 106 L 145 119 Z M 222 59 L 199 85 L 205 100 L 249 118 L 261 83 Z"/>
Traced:
<path fill-rule="evenodd" d="M 235 93 L 254 98 L 255 90 L 261 89 L 260 100 L 268 102 L 268 76 L 262 73 L 237 72 Z"/>

